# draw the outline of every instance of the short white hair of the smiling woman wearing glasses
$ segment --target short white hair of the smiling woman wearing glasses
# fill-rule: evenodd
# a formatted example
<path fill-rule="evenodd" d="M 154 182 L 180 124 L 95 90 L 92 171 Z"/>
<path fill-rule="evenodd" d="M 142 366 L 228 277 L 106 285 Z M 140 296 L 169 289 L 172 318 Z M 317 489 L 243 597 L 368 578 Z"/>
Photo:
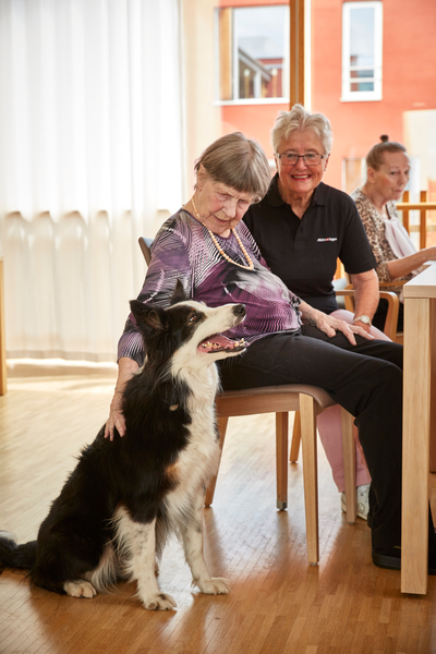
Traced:
<path fill-rule="evenodd" d="M 330 121 L 324 113 L 311 113 L 302 105 L 294 105 L 290 111 L 280 111 L 271 131 L 274 152 L 277 153 L 280 143 L 287 141 L 292 132 L 311 130 L 320 140 L 324 154 L 331 152 L 332 132 Z"/>

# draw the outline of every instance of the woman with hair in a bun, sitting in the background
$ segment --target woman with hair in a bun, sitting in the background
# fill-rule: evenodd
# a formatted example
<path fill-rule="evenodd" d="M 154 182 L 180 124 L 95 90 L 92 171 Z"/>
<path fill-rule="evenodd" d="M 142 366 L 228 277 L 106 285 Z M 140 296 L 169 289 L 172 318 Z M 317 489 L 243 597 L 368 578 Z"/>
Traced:
<path fill-rule="evenodd" d="M 382 282 L 409 281 L 419 272 L 420 266 L 436 259 L 436 246 L 416 252 L 407 230 L 400 222 L 393 201 L 400 199 L 410 175 L 410 159 L 405 147 L 380 137 L 366 156 L 366 181 L 351 194 L 371 247 L 376 259 L 376 272 Z M 402 287 L 390 287 L 402 300 Z M 383 329 L 387 314 L 387 301 L 380 300 L 373 324 Z M 403 328 L 401 301 L 398 329 Z"/>

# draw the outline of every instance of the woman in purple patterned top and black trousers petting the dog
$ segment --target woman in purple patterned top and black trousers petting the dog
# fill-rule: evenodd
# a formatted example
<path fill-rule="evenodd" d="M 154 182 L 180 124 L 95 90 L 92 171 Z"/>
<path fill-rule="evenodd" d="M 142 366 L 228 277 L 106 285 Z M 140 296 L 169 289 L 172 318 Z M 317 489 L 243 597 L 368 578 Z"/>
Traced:
<path fill-rule="evenodd" d="M 245 320 L 228 331 L 250 343 L 244 355 L 221 362 L 225 389 L 280 384 L 325 388 L 359 425 L 372 474 L 373 561 L 400 569 L 402 348 L 375 341 L 310 306 L 265 267 L 241 221 L 269 183 L 263 150 L 242 134 L 213 143 L 196 164 L 192 198 L 159 230 L 140 293 L 143 302 L 169 304 L 175 280 L 197 301 L 246 306 Z M 120 395 L 144 363 L 141 337 L 130 317 L 119 343 L 119 378 L 107 423 L 122 436 Z M 429 522 L 429 570 L 436 571 L 436 538 Z"/>

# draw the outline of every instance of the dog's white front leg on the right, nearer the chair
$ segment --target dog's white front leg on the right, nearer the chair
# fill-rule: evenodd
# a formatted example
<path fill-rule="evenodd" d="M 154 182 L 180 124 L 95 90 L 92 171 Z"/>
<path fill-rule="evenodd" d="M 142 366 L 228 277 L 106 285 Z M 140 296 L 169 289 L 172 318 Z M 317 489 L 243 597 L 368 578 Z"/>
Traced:
<path fill-rule="evenodd" d="M 227 595 L 230 585 L 227 579 L 210 577 L 203 556 L 203 509 L 204 495 L 196 494 L 192 506 L 193 520 L 180 525 L 184 554 L 192 572 L 192 583 L 207 595 Z"/>

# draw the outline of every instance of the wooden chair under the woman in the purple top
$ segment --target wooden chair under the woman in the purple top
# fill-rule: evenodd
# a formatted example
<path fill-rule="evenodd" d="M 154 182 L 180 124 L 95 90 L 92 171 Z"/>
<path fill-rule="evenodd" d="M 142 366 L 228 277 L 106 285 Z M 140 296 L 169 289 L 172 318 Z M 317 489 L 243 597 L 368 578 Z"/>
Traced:
<path fill-rule="evenodd" d="M 140 238 L 141 250 L 147 265 L 152 258 L 149 250 L 152 243 L 152 239 Z M 325 390 L 315 386 L 298 384 L 227 390 L 218 393 L 216 399 L 221 452 L 229 417 L 276 413 L 277 508 L 279 510 L 283 510 L 288 506 L 289 411 L 299 411 L 303 449 L 307 559 L 311 564 L 317 564 L 319 560 L 316 416 L 334 404 L 336 402 Z M 354 522 L 356 517 L 355 447 L 352 425 L 352 416 L 344 409 L 341 409 L 347 520 L 349 522 Z M 206 507 L 209 507 L 213 502 L 217 476 L 210 482 L 206 491 Z"/>

